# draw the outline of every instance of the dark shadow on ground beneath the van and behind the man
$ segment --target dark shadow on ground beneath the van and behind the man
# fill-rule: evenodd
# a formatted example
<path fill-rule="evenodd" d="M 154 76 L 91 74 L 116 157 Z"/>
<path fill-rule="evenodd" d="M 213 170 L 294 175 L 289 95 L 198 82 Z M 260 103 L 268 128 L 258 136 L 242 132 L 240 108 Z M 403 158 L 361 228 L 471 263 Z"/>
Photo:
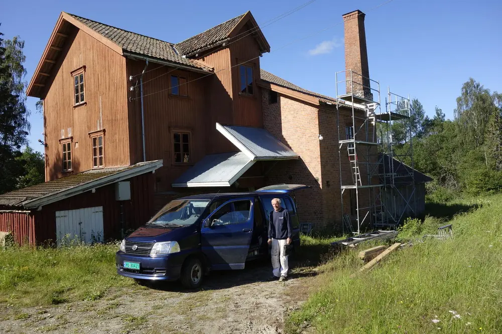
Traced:
<path fill-rule="evenodd" d="M 289 261 L 288 279 L 297 279 L 317 275 L 315 268 L 327 261 L 334 252 L 329 244 L 302 245 L 300 251 Z M 150 288 L 163 291 L 195 292 L 199 290 L 219 290 L 238 285 L 267 282 L 272 275 L 270 257 L 247 262 L 242 270 L 212 271 L 204 277 L 202 287 L 198 290 L 183 288 L 180 282 L 145 283 Z"/>

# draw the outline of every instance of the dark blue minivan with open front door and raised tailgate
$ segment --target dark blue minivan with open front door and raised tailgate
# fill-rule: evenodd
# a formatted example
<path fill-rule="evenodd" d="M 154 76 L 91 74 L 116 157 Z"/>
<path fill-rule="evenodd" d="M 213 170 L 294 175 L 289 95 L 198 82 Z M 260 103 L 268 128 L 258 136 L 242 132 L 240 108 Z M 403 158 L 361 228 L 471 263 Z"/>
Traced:
<path fill-rule="evenodd" d="M 117 273 L 137 280 L 180 280 L 201 285 L 210 270 L 243 269 L 245 262 L 270 256 L 267 243 L 272 199 L 282 201 L 300 246 L 300 223 L 294 190 L 280 184 L 254 192 L 203 194 L 173 200 L 120 243 Z"/>

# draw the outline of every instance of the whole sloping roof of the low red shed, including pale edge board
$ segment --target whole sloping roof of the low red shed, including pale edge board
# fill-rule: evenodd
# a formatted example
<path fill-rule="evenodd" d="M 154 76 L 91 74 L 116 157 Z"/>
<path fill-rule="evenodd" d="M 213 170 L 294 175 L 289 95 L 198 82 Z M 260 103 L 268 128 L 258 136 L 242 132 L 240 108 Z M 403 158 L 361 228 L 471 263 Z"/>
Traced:
<path fill-rule="evenodd" d="M 88 170 L 0 195 L 0 206 L 37 208 L 162 167 L 162 160 Z"/>

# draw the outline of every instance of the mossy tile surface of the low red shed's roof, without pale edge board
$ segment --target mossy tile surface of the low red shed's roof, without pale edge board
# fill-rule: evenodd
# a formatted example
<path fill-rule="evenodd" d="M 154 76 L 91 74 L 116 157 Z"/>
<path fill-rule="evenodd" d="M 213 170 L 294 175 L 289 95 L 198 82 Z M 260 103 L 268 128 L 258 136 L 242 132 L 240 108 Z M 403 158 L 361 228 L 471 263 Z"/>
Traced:
<path fill-rule="evenodd" d="M 148 171 L 148 166 L 151 166 L 151 168 L 156 168 L 156 165 L 157 161 L 153 161 L 142 162 L 132 166 L 88 170 L 82 173 L 62 177 L 57 180 L 40 183 L 34 186 L 2 194 L 0 195 L 0 206 L 25 206 L 25 204 L 28 204 L 28 202 L 30 201 L 39 199 L 41 197 L 53 196 L 72 188 L 85 185 L 86 183 L 103 179 L 110 175 L 119 174 L 120 172 L 125 171 L 132 171 L 133 169 L 139 170 L 140 167 L 147 167 L 146 170 Z M 142 172 L 144 172 L 144 169 L 145 168 L 142 168 Z M 138 175 L 139 174 L 141 174 L 141 172 L 139 172 Z M 95 187 L 99 187 L 99 184 L 95 185 Z"/>

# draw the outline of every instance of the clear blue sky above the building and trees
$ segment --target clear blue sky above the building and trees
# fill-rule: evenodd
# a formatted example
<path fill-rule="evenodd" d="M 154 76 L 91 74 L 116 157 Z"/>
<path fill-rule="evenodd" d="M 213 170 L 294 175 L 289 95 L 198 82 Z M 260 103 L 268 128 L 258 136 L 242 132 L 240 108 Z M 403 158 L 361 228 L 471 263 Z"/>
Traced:
<path fill-rule="evenodd" d="M 135 33 L 177 43 L 246 11 L 258 24 L 276 18 L 307 0 L 235 1 L 8 1 L 0 5 L 0 32 L 25 41 L 26 81 L 30 81 L 61 11 Z M 263 28 L 271 53 L 263 69 L 303 88 L 335 96 L 335 72 L 343 71 L 342 14 L 366 14 L 369 73 L 381 85 L 417 98 L 429 116 L 439 106 L 453 118 L 455 99 L 470 77 L 491 91 L 502 92 L 502 43 L 499 0 L 316 0 L 300 11 Z M 332 26 L 321 33 L 315 32 Z M 304 37 L 308 38 L 302 39 Z M 301 40 L 299 40 L 301 39 Z M 299 40 L 287 47 L 285 45 Z M 40 151 L 42 115 L 37 99 L 32 111 L 30 145 Z"/>

